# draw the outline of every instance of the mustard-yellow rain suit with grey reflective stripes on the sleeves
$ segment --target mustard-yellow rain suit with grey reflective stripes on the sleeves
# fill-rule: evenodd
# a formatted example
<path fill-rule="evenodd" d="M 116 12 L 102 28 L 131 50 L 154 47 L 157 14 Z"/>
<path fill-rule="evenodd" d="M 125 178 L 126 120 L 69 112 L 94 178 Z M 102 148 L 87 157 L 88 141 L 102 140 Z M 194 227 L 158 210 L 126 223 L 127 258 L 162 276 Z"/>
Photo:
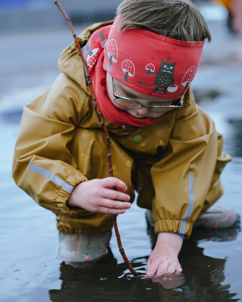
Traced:
<path fill-rule="evenodd" d="M 79 35 L 110 24 L 93 24 Z M 84 68 L 73 43 L 59 58 L 55 83 L 24 107 L 13 161 L 13 178 L 38 204 L 57 216 L 61 232 L 112 228 L 112 215 L 68 208 L 78 183 L 108 177 L 104 131 L 93 110 Z M 104 119 L 105 120 L 105 119 Z M 189 89 L 181 109 L 145 127 L 123 127 L 105 120 L 114 176 L 128 186 L 138 205 L 152 208 L 155 231 L 191 234 L 202 211 L 222 194 L 219 175 L 229 155 L 211 118 L 195 104 Z M 131 179 L 132 178 L 132 179 Z M 124 214 L 125 215 L 125 214 Z"/>

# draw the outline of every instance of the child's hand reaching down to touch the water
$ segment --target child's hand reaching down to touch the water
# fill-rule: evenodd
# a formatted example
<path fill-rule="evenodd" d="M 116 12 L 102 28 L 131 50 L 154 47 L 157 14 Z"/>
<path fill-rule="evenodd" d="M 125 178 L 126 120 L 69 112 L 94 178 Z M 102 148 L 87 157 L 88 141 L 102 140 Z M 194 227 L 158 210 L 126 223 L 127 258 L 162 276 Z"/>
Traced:
<path fill-rule="evenodd" d="M 151 252 L 147 263 L 148 278 L 159 278 L 164 274 L 181 272 L 178 261 L 183 239 L 173 233 L 159 233 L 155 248 Z"/>

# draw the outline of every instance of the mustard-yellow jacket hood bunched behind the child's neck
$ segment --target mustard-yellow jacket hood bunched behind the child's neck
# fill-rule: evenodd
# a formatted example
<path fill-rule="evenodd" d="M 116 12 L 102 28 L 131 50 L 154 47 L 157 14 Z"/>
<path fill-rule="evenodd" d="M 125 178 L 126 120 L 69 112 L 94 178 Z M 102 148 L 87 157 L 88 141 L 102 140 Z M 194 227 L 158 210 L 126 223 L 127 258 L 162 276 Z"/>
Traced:
<path fill-rule="evenodd" d="M 77 37 L 81 47 L 85 46 L 90 35 L 97 29 L 112 24 L 113 21 L 104 23 L 95 23 L 85 28 Z M 58 61 L 58 67 L 70 79 L 77 82 L 80 87 L 89 95 L 91 95 L 89 87 L 85 84 L 84 64 L 78 54 L 78 48 L 75 41 L 67 46 L 61 53 Z"/>

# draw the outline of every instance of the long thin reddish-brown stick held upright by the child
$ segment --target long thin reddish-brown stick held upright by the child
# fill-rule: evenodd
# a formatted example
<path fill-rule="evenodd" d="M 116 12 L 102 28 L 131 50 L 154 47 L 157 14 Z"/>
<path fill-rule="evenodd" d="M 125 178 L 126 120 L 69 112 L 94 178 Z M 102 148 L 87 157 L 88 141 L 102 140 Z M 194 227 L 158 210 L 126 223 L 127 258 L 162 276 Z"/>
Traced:
<path fill-rule="evenodd" d="M 106 140 L 106 148 L 107 148 L 107 156 L 108 156 L 108 174 L 109 176 L 113 176 L 113 169 L 112 169 L 112 160 L 111 160 L 111 145 L 110 145 L 110 137 L 109 137 L 109 134 L 108 134 L 108 129 L 104 123 L 104 117 L 103 117 L 103 114 L 102 112 L 100 111 L 100 109 L 98 108 L 97 106 L 97 103 L 96 103 L 96 96 L 95 96 L 95 92 L 94 92 L 94 89 L 93 89 L 93 84 L 92 84 L 92 81 L 91 81 L 91 77 L 90 77 L 90 74 L 89 74 L 89 69 L 88 69 L 88 65 L 86 63 L 86 60 L 85 58 L 83 57 L 83 54 L 82 54 L 82 51 L 81 51 L 81 46 L 80 46 L 80 43 L 77 39 L 77 36 L 74 32 L 74 28 L 72 26 L 72 23 L 71 23 L 71 20 L 70 18 L 67 16 L 67 14 L 65 13 L 65 11 L 62 9 L 62 7 L 60 6 L 59 2 L 58 1 L 55 1 L 54 2 L 57 7 L 59 8 L 59 10 L 61 11 L 61 13 L 63 14 L 63 16 L 65 17 L 68 25 L 69 25 L 69 28 L 72 32 L 72 35 L 75 39 L 75 42 L 76 42 L 76 46 L 78 48 L 78 53 L 79 55 L 81 56 L 81 59 L 83 61 L 83 64 L 85 66 L 85 69 L 86 69 L 86 73 L 87 73 L 87 85 L 91 91 L 91 96 L 92 96 L 92 100 L 93 100 L 93 107 L 94 107 L 94 110 L 96 111 L 98 117 L 99 117 L 99 121 L 100 121 L 100 125 L 103 127 L 103 130 L 104 130 L 104 133 L 105 133 L 105 140 Z M 114 190 L 117 190 L 116 187 L 113 187 Z M 119 230 L 118 230 L 118 225 L 117 225 L 117 215 L 113 215 L 113 225 L 114 225 L 114 230 L 115 230 L 115 234 L 116 234 L 116 238 L 117 238 L 117 242 L 118 242 L 118 246 L 119 246 L 119 252 L 121 253 L 122 257 L 123 257 L 123 260 L 124 262 L 126 263 L 128 269 L 130 270 L 130 272 L 134 275 L 134 276 L 140 276 L 135 270 L 134 268 L 132 267 L 132 265 L 130 264 L 125 252 L 124 252 L 124 248 L 122 246 L 122 243 L 121 243 L 121 239 L 120 239 L 120 235 L 119 235 Z"/>

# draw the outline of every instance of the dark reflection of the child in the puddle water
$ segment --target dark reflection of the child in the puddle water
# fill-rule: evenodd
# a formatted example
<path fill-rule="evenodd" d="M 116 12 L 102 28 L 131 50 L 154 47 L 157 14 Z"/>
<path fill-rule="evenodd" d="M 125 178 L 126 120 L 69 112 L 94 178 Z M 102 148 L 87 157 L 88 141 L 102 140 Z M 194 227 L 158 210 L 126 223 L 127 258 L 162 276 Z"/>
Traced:
<path fill-rule="evenodd" d="M 219 230 L 210 236 L 210 240 L 233 240 L 239 229 Z M 148 228 L 151 244 L 154 245 L 156 235 L 153 228 Z M 229 293 L 229 285 L 221 285 L 225 280 L 225 259 L 216 259 L 203 255 L 203 249 L 197 246 L 196 236 L 207 239 L 207 235 L 199 231 L 184 241 L 180 252 L 180 263 L 183 273 L 173 280 L 168 278 L 160 283 L 150 279 L 133 277 L 124 263 L 117 264 L 111 250 L 95 265 L 82 264 L 83 267 L 61 263 L 61 289 L 49 291 L 53 302 L 95 302 L 95 301 L 238 301 L 235 294 Z M 202 238 L 204 236 L 204 238 Z M 145 276 L 148 256 L 131 261 L 139 274 Z M 180 283 L 178 283 L 180 282 Z M 163 284 L 163 286 L 161 285 Z"/>

